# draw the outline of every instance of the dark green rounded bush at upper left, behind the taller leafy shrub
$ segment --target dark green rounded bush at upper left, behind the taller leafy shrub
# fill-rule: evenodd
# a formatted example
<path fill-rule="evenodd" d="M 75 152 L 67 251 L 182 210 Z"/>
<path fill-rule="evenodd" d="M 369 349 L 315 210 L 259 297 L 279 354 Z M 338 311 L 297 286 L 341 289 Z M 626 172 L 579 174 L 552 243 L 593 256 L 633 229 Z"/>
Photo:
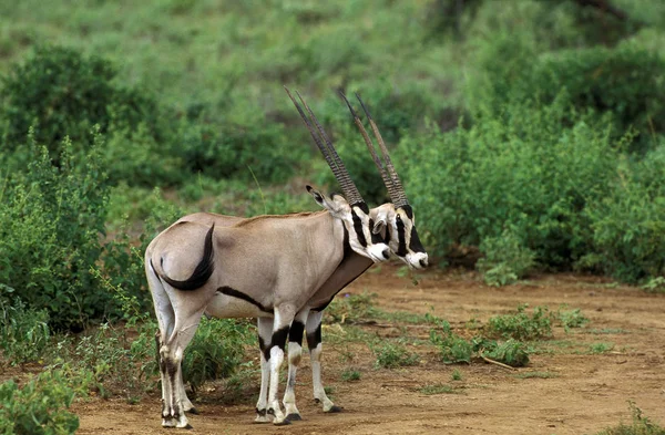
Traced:
<path fill-rule="evenodd" d="M 111 125 L 135 128 L 149 125 L 157 135 L 155 101 L 145 92 L 117 85 L 116 69 L 105 59 L 57 45 L 37 46 L 16 65 L 0 89 L 0 117 L 7 120 L 4 148 L 17 149 L 34 126 L 34 141 L 60 158 L 60 144 L 91 139 L 91 130 Z"/>

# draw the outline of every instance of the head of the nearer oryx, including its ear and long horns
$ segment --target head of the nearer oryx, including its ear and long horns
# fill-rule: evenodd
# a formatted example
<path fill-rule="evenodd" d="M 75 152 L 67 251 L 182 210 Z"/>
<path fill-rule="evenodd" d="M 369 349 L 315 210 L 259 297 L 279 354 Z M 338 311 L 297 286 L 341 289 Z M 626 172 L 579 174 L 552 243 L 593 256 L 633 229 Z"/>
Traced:
<path fill-rule="evenodd" d="M 314 199 L 321 207 L 326 208 L 332 217 L 341 220 L 346 228 L 346 234 L 348 235 L 348 237 L 346 237 L 348 239 L 347 241 L 355 252 L 368 257 L 375 262 L 388 260 L 390 258 L 390 248 L 381 237 L 377 236 L 378 231 L 375 229 L 375 221 L 369 216 L 369 207 L 351 180 L 349 173 L 337 154 L 329 136 L 326 134 L 324 127 L 300 94 L 296 92 L 311 120 L 305 115 L 305 112 L 293 97 L 289 90 L 286 86 L 284 89 L 294 102 L 294 105 L 298 110 L 307 130 L 309 130 L 314 142 L 332 170 L 337 183 L 339 183 L 339 187 L 341 187 L 344 196 L 326 196 L 314 189 L 311 186 L 307 186 L 307 191 L 309 191 Z M 313 124 L 316 125 L 316 130 Z"/>

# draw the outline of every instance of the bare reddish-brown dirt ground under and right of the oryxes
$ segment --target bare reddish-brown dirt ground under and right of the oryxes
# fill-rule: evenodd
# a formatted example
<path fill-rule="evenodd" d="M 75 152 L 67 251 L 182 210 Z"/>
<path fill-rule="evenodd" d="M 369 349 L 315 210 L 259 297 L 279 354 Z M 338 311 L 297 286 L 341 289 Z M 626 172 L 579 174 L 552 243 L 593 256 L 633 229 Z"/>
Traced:
<path fill-rule="evenodd" d="M 553 351 L 531 355 L 529 366 L 515 371 L 483 362 L 446 365 L 438 361 L 434 349 L 424 344 L 413 348 L 420 354 L 418 365 L 376 370 L 366 345 L 326 344 L 324 329 L 324 382 L 344 412 L 324 414 L 314 403 L 309 359 L 304 356 L 296 389 L 301 422 L 283 427 L 254 424 L 254 398 L 227 406 L 222 404 L 223 391 L 207 389 L 198 405 L 201 414 L 190 416 L 194 429 L 187 433 L 595 434 L 620 422 L 630 423 L 630 400 L 653 421 L 665 423 L 665 296 L 567 275 L 536 277 L 497 289 L 469 272 L 429 272 L 418 286 L 396 272 L 395 267 L 382 266 L 348 290 L 378 293 L 377 304 L 386 311 L 426 313 L 433 308 L 436 315 L 460 331 L 471 319 L 483 323 L 492 315 L 514 312 L 520 303 L 552 310 L 565 303 L 580 308 L 590 323 L 567 334 L 555 328 Z M 429 332 L 422 324 L 362 329 L 381 336 L 408 333 L 422 339 Z M 574 344 L 566 348 L 566 342 Z M 598 354 L 579 351 L 598 342 L 614 346 Z M 354 355 L 350 363 L 349 349 Z M 341 373 L 349 365 L 361 372 L 359 381 L 342 381 Z M 460 381 L 451 379 L 456 369 L 462 374 Z M 524 375 L 531 372 L 549 377 Z M 420 392 L 437 383 L 453 386 L 457 394 Z M 177 433 L 161 428 L 160 410 L 154 394 L 139 405 L 100 400 L 76 404 L 73 411 L 81 420 L 80 434 Z"/>

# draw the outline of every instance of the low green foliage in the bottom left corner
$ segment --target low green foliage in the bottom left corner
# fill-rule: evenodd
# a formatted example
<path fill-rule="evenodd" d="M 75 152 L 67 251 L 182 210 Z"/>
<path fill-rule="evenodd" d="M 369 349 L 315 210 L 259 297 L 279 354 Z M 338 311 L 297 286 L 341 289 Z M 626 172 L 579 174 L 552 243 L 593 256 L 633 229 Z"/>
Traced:
<path fill-rule="evenodd" d="M 76 390 L 61 371 L 45 371 L 23 386 L 13 381 L 0 384 L 0 433 L 70 435 L 79 417 L 66 411 Z"/>

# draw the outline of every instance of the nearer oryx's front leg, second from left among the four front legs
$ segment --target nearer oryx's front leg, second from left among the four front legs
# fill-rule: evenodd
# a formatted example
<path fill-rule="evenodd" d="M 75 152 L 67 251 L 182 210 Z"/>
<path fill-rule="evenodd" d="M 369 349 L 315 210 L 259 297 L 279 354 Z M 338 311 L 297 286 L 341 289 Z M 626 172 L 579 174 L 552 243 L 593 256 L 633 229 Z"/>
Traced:
<path fill-rule="evenodd" d="M 289 424 L 279 406 L 277 395 L 279 394 L 279 370 L 284 362 L 284 349 L 288 330 L 294 320 L 295 310 L 290 307 L 280 307 L 275 310 L 273 321 L 273 336 L 270 339 L 270 386 L 268 389 L 268 414 L 274 415 L 273 423 L 276 425 Z"/>

